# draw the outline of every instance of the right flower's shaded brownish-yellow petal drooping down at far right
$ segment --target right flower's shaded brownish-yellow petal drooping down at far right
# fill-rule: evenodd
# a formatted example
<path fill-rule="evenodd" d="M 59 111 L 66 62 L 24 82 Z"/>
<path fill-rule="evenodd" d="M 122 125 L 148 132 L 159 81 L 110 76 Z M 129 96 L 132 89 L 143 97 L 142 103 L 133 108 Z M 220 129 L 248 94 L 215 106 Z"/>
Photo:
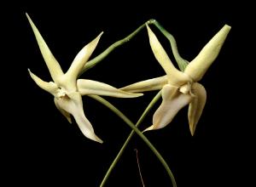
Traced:
<path fill-rule="evenodd" d="M 207 91 L 200 83 L 192 85 L 192 93 L 195 94 L 189 105 L 189 129 L 192 136 L 195 133 L 195 127 L 201 117 L 201 113 L 207 102 Z"/>

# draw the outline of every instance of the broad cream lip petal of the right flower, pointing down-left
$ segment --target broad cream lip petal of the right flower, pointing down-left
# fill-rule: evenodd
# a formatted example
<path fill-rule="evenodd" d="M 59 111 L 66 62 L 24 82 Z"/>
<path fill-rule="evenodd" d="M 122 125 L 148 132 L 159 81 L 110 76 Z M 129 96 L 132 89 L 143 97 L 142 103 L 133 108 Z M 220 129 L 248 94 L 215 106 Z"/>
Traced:
<path fill-rule="evenodd" d="M 167 124 L 172 122 L 177 112 L 189 104 L 191 96 L 180 93 L 177 87 L 166 84 L 162 89 L 162 99 L 160 107 L 154 113 L 153 125 L 144 131 L 166 127 Z"/>

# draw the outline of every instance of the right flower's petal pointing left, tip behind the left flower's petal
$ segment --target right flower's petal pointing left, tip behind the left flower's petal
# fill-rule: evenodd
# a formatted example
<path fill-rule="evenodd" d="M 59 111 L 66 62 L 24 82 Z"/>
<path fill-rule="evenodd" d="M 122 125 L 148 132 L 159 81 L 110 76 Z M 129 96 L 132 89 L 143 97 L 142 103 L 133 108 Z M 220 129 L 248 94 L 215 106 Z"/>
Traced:
<path fill-rule="evenodd" d="M 153 90 L 160 90 L 167 83 L 168 83 L 167 76 L 163 76 L 163 77 L 148 79 L 146 81 L 136 82 L 120 89 L 125 92 L 131 92 L 131 93 L 147 92 L 147 91 L 153 91 Z"/>

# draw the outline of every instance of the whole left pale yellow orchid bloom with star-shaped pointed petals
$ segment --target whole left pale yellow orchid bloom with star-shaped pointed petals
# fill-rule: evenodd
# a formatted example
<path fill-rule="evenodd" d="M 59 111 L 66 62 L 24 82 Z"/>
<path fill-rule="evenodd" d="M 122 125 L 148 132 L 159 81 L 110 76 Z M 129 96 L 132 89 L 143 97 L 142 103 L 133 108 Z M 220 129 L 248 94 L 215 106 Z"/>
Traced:
<path fill-rule="evenodd" d="M 80 50 L 79 54 L 77 54 L 73 59 L 72 65 L 64 74 L 58 61 L 50 52 L 46 42 L 44 42 L 44 38 L 39 33 L 37 27 L 33 24 L 28 14 L 26 14 L 26 17 L 32 26 L 32 31 L 34 32 L 38 46 L 44 57 L 44 61 L 48 66 L 50 76 L 54 82 L 44 82 L 28 70 L 30 76 L 40 88 L 43 88 L 45 91 L 49 92 L 49 94 L 54 95 L 54 101 L 57 109 L 67 118 L 68 122 L 71 123 L 70 115 L 72 115 L 85 137 L 102 143 L 102 139 L 99 139 L 96 136 L 92 125 L 84 116 L 82 96 L 96 94 L 118 98 L 133 98 L 143 94 L 127 93 L 102 82 L 87 79 L 77 80 L 79 72 L 82 71 L 84 64 L 95 50 L 102 33 Z"/>

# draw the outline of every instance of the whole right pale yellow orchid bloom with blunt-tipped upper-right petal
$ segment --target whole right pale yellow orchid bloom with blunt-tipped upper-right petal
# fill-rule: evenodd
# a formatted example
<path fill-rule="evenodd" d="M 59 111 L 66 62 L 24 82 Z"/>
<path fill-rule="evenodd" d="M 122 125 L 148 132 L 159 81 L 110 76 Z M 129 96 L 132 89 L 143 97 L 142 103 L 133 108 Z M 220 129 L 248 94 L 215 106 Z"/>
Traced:
<path fill-rule="evenodd" d="M 153 125 L 144 131 L 166 127 L 167 124 L 172 122 L 173 117 L 176 116 L 179 110 L 185 105 L 189 105 L 189 129 L 190 133 L 194 135 L 195 127 L 207 100 L 206 89 L 198 82 L 217 58 L 230 28 L 230 26 L 225 25 L 201 49 L 201 52 L 186 66 L 184 71 L 178 71 L 172 65 L 171 59 L 169 59 L 154 32 L 147 26 L 154 57 L 166 72 L 166 76 L 137 82 L 121 88 L 132 93 L 161 89 L 162 103 L 154 113 Z"/>

